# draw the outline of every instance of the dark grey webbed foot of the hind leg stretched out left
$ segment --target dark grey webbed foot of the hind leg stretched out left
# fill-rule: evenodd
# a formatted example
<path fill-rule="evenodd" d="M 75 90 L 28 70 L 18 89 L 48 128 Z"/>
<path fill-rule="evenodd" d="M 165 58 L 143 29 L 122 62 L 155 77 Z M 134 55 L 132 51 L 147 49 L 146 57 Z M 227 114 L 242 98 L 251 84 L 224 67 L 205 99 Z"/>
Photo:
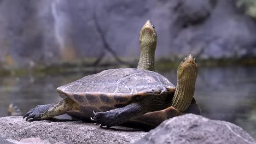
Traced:
<path fill-rule="evenodd" d="M 38 105 L 34 107 L 34 109 L 31 109 L 26 113 L 26 115 L 23 118 L 26 118 L 26 121 L 36 121 L 36 120 L 43 120 L 42 115 L 48 111 L 51 104 L 48 105 Z"/>

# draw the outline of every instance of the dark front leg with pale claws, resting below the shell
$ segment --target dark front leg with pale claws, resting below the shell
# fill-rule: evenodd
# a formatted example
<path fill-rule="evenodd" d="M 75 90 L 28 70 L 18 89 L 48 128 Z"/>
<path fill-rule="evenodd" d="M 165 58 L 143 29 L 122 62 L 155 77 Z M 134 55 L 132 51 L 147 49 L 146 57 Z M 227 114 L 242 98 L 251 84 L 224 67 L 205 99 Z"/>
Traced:
<path fill-rule="evenodd" d="M 106 112 L 97 112 L 91 120 L 96 122 L 96 124 L 100 124 L 100 127 L 105 125 L 107 127 L 112 127 L 114 125 L 127 122 L 131 118 L 141 116 L 144 113 L 147 113 L 147 110 L 148 109 L 142 103 L 132 103 L 118 109 Z"/>

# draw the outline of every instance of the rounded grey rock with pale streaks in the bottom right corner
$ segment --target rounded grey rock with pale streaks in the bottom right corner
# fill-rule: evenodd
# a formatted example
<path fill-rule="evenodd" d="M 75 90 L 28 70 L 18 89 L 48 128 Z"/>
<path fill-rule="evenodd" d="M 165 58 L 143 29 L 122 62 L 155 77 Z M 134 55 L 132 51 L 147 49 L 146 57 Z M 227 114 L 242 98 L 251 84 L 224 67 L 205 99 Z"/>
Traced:
<path fill-rule="evenodd" d="M 235 124 L 187 114 L 162 122 L 136 143 L 256 143 Z"/>

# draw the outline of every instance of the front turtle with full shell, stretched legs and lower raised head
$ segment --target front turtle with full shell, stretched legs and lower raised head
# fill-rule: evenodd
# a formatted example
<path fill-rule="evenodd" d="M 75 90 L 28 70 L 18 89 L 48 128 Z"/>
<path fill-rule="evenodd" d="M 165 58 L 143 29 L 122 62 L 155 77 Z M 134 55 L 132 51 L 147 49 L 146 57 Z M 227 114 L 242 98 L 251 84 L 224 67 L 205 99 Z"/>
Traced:
<path fill-rule="evenodd" d="M 103 70 L 57 88 L 57 103 L 38 105 L 26 121 L 68 115 L 112 127 L 129 121 L 157 126 L 167 118 L 186 112 L 199 113 L 193 98 L 197 64 L 189 55 L 179 64 L 177 87 L 150 70 L 120 68 Z"/>

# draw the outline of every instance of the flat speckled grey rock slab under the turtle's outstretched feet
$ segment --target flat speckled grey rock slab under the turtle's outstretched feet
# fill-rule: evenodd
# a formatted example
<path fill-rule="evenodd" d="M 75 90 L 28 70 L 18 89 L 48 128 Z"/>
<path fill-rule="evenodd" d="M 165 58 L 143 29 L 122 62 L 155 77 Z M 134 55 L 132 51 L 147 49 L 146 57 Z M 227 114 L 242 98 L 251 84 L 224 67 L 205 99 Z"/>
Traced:
<path fill-rule="evenodd" d="M 134 143 L 147 133 L 125 127 L 100 128 L 84 122 L 26 122 L 22 117 L 0 117 L 0 137 L 21 140 L 40 137 L 50 143 Z"/>

